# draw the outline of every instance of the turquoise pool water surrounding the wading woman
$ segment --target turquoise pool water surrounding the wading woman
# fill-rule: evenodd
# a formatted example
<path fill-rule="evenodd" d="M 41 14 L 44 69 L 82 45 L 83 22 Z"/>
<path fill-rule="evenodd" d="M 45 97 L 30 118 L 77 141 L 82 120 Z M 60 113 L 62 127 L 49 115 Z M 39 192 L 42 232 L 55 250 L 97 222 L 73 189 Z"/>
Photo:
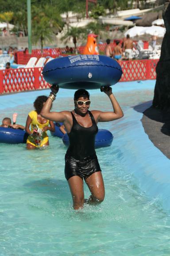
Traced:
<path fill-rule="evenodd" d="M 139 84 L 133 91 L 124 84 L 113 88 L 125 116 L 121 121 L 99 124 L 114 136 L 111 147 L 97 149 L 106 190 L 99 206 L 85 206 L 80 212 L 72 209 L 64 177 L 66 147 L 61 139 L 49 134 L 49 148 L 35 151 L 27 151 L 24 144 L 0 144 L 0 256 L 170 255 L 169 212 L 158 197 L 141 189 L 131 143 L 140 136 L 135 134 L 134 106 L 153 98 L 154 84 L 143 89 Z M 0 120 L 18 112 L 17 122 L 25 124 L 35 97 L 48 93 L 1 96 Z M 96 90 L 90 93 L 91 109 L 111 107 L 107 96 Z M 61 90 L 53 109 L 71 110 L 72 96 L 73 91 L 69 95 Z M 127 142 L 123 133 L 129 123 L 132 132 Z M 127 144 L 131 147 L 125 152 Z M 127 164 L 127 157 L 132 164 Z M 144 163 L 141 168 L 146 168 Z M 85 196 L 89 196 L 86 185 Z"/>

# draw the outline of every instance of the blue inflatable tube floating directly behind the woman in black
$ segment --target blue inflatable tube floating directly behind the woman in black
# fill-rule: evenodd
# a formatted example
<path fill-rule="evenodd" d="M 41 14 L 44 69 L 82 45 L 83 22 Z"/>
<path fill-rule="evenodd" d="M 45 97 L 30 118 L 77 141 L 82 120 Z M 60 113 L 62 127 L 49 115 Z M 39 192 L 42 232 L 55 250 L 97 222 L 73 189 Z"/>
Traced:
<path fill-rule="evenodd" d="M 63 143 L 68 147 L 69 146 L 69 136 L 64 134 L 62 137 Z M 104 148 L 112 144 L 113 135 L 106 129 L 99 129 L 95 138 L 95 148 Z"/>

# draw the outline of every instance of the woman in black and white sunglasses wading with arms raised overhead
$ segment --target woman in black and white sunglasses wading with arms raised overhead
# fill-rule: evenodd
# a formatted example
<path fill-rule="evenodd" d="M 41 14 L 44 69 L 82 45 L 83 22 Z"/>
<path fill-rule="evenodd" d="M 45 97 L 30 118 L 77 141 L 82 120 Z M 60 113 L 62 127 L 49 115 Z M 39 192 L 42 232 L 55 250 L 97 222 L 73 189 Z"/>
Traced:
<path fill-rule="evenodd" d="M 112 94 L 111 87 L 102 87 L 113 107 L 111 112 L 89 111 L 89 92 L 77 90 L 74 94 L 74 110 L 50 112 L 52 102 L 58 93 L 58 86 L 52 85 L 48 100 L 44 104 L 41 116 L 62 122 L 69 136 L 70 146 L 65 156 L 65 176 L 73 198 L 73 208 L 83 208 L 84 203 L 99 204 L 104 200 L 104 182 L 100 165 L 94 149 L 98 122 L 108 122 L 124 116 L 119 103 Z M 89 187 L 91 196 L 84 199 L 83 179 Z"/>

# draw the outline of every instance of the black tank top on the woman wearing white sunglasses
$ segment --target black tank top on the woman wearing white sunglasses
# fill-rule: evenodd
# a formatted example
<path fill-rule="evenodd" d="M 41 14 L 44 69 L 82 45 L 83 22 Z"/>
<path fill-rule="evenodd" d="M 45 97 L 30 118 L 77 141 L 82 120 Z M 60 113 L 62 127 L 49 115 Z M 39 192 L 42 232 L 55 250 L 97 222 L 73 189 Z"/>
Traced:
<path fill-rule="evenodd" d="M 75 116 L 71 112 L 73 126 L 70 133 L 68 133 L 70 145 L 67 149 L 66 156 L 73 156 L 75 159 L 81 160 L 96 154 L 94 145 L 98 127 L 92 113 L 90 111 L 88 111 L 88 113 L 92 120 L 92 126 L 85 128 L 78 124 Z"/>

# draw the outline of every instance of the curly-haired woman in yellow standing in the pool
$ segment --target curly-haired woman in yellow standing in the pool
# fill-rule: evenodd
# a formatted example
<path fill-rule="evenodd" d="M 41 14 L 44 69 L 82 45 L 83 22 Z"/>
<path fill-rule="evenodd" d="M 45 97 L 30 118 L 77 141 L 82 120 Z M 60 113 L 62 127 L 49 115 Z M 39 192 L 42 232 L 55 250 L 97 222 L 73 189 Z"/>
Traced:
<path fill-rule="evenodd" d="M 55 131 L 53 121 L 49 121 L 39 114 L 47 99 L 47 96 L 38 96 L 34 102 L 35 110 L 29 112 L 27 116 L 25 127 L 26 132 L 29 134 L 27 138 L 27 149 L 35 149 L 48 146 L 49 140 L 46 131 Z"/>

